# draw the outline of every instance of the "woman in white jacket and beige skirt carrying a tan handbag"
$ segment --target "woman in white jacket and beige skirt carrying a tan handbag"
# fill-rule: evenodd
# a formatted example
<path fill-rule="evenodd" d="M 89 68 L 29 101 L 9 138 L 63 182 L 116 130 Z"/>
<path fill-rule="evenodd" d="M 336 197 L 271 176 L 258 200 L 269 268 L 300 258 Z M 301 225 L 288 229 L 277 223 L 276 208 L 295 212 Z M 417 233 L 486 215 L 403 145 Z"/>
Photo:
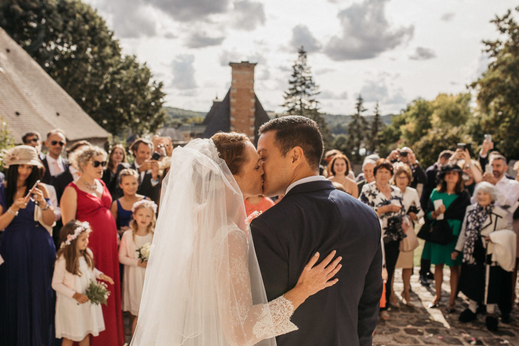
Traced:
<path fill-rule="evenodd" d="M 414 225 L 418 220 L 424 216 L 424 211 L 420 206 L 420 198 L 416 189 L 409 187 L 413 180 L 413 173 L 409 166 L 405 163 L 397 163 L 394 166 L 394 175 L 392 183 L 396 185 L 403 193 L 403 209 L 405 215 L 411 219 L 411 227 L 408 227 L 407 232 L 414 232 Z M 413 257 L 414 251 L 400 252 L 395 268 L 402 268 L 402 281 L 404 283 L 404 290 L 402 291 L 402 299 L 407 306 L 414 306 L 411 302 L 411 294 L 409 287 L 411 287 L 411 275 L 413 274 Z M 394 280 L 394 277 L 393 277 Z M 391 283 L 391 287 L 393 287 Z M 389 300 L 393 306 L 398 306 L 397 296 L 392 290 L 391 298 Z"/>

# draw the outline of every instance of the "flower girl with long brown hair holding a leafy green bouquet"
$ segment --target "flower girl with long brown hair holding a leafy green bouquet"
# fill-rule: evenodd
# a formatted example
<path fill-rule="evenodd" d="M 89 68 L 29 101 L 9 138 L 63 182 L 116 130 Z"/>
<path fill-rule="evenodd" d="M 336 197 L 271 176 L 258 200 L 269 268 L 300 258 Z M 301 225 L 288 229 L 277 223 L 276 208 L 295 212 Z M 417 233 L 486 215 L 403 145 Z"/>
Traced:
<path fill-rule="evenodd" d="M 86 290 L 90 283 L 101 279 L 114 281 L 94 268 L 92 251 L 88 246 L 90 225 L 71 220 L 60 231 L 52 288 L 56 290 L 56 337 L 63 338 L 62 346 L 78 341 L 88 346 L 89 334 L 98 336 L 104 330 L 101 305 L 89 303 Z"/>

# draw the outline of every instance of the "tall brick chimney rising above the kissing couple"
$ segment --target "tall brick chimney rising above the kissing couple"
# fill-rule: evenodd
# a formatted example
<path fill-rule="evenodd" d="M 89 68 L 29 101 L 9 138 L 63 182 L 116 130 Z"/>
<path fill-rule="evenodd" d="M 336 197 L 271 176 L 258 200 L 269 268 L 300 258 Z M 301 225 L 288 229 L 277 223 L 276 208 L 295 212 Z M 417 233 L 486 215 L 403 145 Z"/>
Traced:
<path fill-rule="evenodd" d="M 256 99 L 254 97 L 254 66 L 248 61 L 229 63 L 232 71 L 230 86 L 230 130 L 243 132 L 254 140 Z"/>

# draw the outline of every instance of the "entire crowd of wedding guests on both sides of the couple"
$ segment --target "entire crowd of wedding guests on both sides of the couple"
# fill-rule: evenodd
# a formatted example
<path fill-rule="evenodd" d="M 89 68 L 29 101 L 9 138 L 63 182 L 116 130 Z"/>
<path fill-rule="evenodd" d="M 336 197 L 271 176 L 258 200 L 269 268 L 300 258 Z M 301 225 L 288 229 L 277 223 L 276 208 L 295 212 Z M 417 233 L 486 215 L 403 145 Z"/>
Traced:
<path fill-rule="evenodd" d="M 59 129 L 45 142 L 35 131 L 22 141 L 4 156 L 6 174 L 0 175 L 0 344 L 122 345 L 122 312 L 130 315 L 131 333 L 139 314 L 146 268 L 139 254 L 153 239 L 171 140 L 139 138 L 128 150 L 116 144 L 109 153 L 87 141 L 65 150 Z M 426 240 L 420 283 L 434 279 L 436 289 L 430 308 L 441 307 L 447 265 L 449 313 L 461 291 L 469 306 L 460 321 L 486 312 L 488 329 L 496 330 L 498 308 L 501 321 L 509 322 L 519 263 L 519 182 L 507 175 L 507 159 L 493 143 L 485 140 L 475 160 L 463 148 L 444 150 L 425 170 L 408 147 L 387 158 L 366 157 L 358 176 L 338 150 L 324 160 L 321 174 L 380 220 L 386 282 L 381 319 L 390 319 L 389 305 L 400 305 L 392 288 L 395 268 L 402 268 L 401 301 L 413 306 L 419 230 Z M 282 198 L 250 197 L 247 215 Z M 106 305 L 88 302 L 86 288 L 96 280 L 110 291 Z"/>

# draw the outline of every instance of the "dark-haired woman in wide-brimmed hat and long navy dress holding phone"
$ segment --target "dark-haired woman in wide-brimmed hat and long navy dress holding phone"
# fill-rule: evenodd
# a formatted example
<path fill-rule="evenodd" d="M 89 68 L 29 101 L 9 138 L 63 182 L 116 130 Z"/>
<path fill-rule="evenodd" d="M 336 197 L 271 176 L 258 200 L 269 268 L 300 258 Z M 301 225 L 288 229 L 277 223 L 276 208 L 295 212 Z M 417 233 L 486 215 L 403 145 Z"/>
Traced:
<path fill-rule="evenodd" d="M 48 229 L 54 223 L 36 149 L 20 145 L 4 157 L 6 181 L 0 184 L 0 344 L 49 345 L 54 342 L 56 248 Z"/>

